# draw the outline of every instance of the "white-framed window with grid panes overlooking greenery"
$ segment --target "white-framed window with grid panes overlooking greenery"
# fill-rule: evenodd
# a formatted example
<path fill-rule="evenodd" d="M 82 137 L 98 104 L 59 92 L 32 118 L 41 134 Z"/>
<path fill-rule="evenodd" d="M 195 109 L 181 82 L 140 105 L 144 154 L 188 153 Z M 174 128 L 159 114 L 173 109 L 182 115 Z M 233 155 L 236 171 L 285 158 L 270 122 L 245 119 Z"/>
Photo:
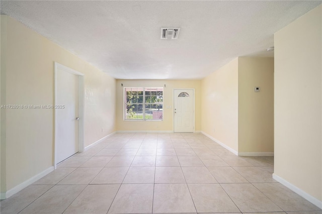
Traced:
<path fill-rule="evenodd" d="M 124 87 L 124 119 L 162 121 L 163 87 Z"/>

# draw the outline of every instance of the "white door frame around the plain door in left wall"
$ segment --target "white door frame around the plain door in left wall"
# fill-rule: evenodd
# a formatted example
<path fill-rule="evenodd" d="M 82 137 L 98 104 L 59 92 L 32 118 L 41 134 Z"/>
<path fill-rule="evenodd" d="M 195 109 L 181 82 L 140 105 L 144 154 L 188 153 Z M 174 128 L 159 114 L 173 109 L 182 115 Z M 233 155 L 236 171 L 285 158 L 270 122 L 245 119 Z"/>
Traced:
<path fill-rule="evenodd" d="M 64 66 L 62 64 L 59 64 L 57 62 L 54 62 L 54 79 L 55 79 L 55 84 L 54 84 L 54 93 L 55 93 L 55 100 L 54 100 L 54 106 L 57 103 L 57 72 L 58 69 L 61 69 L 65 72 L 69 72 L 72 74 L 75 74 L 78 76 L 78 117 L 80 118 L 78 121 L 78 152 L 84 152 L 85 150 L 85 144 L 84 144 L 84 119 L 85 119 L 85 112 L 84 112 L 84 106 L 85 106 L 85 75 L 84 73 L 78 72 L 74 69 L 71 69 L 67 66 Z M 58 127 L 58 119 L 56 117 L 57 115 L 57 111 L 59 111 L 59 109 L 54 108 L 54 118 L 55 118 L 55 127 L 54 127 L 54 168 L 57 168 L 57 142 L 56 139 L 57 138 L 57 132 L 56 130 Z"/>

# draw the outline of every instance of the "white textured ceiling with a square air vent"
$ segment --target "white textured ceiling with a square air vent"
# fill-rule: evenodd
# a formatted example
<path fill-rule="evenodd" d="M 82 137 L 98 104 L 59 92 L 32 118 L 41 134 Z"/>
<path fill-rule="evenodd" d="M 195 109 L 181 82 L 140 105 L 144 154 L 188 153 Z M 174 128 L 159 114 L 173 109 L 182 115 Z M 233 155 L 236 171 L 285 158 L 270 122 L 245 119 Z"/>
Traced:
<path fill-rule="evenodd" d="M 117 79 L 201 79 L 273 56 L 274 33 L 321 1 L 1 1 L 6 14 Z M 160 28 L 180 27 L 178 40 Z"/>

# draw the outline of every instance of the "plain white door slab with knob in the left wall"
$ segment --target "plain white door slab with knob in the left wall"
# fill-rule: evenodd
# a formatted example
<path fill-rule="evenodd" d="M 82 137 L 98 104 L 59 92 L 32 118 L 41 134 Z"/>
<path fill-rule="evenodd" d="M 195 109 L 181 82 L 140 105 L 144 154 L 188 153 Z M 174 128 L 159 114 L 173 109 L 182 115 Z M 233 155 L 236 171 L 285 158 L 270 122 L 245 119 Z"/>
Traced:
<path fill-rule="evenodd" d="M 55 162 L 78 152 L 78 75 L 64 69 L 56 70 Z"/>

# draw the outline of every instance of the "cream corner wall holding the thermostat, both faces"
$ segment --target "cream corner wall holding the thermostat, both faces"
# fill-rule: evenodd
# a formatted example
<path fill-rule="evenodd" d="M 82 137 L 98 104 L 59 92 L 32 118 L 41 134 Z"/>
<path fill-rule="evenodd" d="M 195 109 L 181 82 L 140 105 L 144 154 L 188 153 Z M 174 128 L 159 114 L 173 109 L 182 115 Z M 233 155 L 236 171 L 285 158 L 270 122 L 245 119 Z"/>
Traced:
<path fill-rule="evenodd" d="M 272 155 L 274 58 L 238 57 L 204 78 L 201 112 L 202 131 L 238 155 Z"/>

